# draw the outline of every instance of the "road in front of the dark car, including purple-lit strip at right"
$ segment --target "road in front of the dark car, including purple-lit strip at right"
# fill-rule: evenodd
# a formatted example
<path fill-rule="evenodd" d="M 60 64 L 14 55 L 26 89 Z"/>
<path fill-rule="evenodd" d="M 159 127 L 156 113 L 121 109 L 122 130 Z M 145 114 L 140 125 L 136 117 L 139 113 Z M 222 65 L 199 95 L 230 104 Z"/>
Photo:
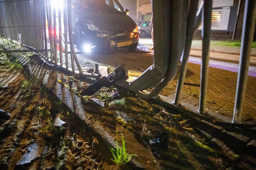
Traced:
<path fill-rule="evenodd" d="M 153 64 L 154 52 L 149 51 L 149 48 L 152 45 L 152 40 L 151 38 L 140 38 L 139 43 L 145 45 L 148 49 L 142 45 L 144 49 L 140 49 L 142 47 L 139 46 L 136 51 L 121 49 L 114 51 L 111 54 L 79 54 L 78 58 L 80 63 L 85 63 L 89 60 L 113 67 L 122 65 L 126 69 L 140 68 L 145 70 Z M 201 58 L 190 56 L 189 63 L 201 64 Z M 239 65 L 210 59 L 209 66 L 229 70 L 231 72 L 238 72 Z M 248 75 L 256 77 L 256 66 L 249 66 Z"/>

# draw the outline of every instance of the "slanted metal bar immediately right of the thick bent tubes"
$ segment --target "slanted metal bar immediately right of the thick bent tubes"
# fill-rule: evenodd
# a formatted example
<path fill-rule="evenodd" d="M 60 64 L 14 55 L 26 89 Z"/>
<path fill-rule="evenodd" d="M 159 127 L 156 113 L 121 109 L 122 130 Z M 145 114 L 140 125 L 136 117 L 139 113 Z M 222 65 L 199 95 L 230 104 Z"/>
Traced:
<path fill-rule="evenodd" d="M 200 10 L 202 10 L 202 5 L 203 5 L 203 2 L 201 3 L 200 8 L 198 10 L 199 12 L 197 13 L 198 1 L 190 2 L 190 9 L 188 13 L 187 39 L 186 39 L 184 51 L 182 53 L 180 75 L 179 75 L 176 93 L 175 93 L 174 102 L 173 102 L 173 104 L 176 104 L 176 105 L 180 104 L 180 96 L 181 96 L 184 80 L 187 73 L 188 57 L 189 57 L 189 52 L 191 48 L 191 43 L 192 43 L 194 32 L 195 30 L 197 30 L 200 23 L 200 20 L 199 21 L 196 20 L 196 17 L 199 17 Z M 198 22 L 198 23 L 195 23 L 195 22 Z"/>

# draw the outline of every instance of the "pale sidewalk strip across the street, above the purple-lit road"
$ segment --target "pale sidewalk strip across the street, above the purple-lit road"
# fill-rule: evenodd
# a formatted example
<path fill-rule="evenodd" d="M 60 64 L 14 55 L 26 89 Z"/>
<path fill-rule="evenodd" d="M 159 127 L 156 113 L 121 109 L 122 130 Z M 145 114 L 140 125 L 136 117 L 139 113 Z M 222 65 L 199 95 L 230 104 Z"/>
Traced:
<path fill-rule="evenodd" d="M 240 47 L 220 46 L 217 42 L 218 41 L 216 40 L 211 41 L 210 59 L 239 63 Z M 149 48 L 151 48 L 153 44 L 151 38 L 141 38 L 139 43 L 144 44 Z M 192 41 L 190 56 L 202 57 L 202 40 Z M 250 65 L 256 66 L 256 48 L 251 48 Z"/>

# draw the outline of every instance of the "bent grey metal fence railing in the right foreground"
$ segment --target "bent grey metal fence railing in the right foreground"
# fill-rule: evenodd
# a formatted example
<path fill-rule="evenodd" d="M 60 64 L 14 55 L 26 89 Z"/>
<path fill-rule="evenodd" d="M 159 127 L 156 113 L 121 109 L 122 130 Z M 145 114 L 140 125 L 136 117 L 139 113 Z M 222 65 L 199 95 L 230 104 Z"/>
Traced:
<path fill-rule="evenodd" d="M 188 57 L 193 35 L 202 22 L 202 62 L 200 74 L 200 96 L 198 117 L 206 112 L 208 87 L 209 50 L 211 38 L 212 0 L 203 0 L 198 9 L 198 1 L 155 1 L 154 13 L 154 64 L 142 75 L 131 82 L 119 81 L 118 84 L 135 91 L 142 98 L 159 95 L 176 75 L 181 59 L 180 74 L 172 108 L 186 111 L 180 104 L 180 97 L 187 72 Z M 160 10 L 161 9 L 161 10 Z M 178 14 L 178 15 L 177 15 Z M 245 0 L 244 24 L 241 37 L 240 63 L 233 112 L 233 124 L 241 123 L 244 103 L 251 44 L 256 21 L 256 1 Z M 144 93 L 147 88 L 149 93 Z M 156 100 L 157 101 L 157 100 Z M 161 102 L 160 102 L 161 103 Z M 191 112 L 189 111 L 189 114 Z M 230 122 L 231 123 L 231 122 Z"/>

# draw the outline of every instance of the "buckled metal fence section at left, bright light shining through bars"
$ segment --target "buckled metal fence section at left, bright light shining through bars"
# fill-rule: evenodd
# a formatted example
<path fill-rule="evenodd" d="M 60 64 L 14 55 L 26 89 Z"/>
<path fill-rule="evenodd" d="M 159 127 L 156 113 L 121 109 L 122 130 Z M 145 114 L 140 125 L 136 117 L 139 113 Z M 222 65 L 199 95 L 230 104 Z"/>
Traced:
<path fill-rule="evenodd" d="M 0 0 L 0 52 L 36 52 L 80 76 L 84 72 L 73 43 L 71 0 Z"/>

